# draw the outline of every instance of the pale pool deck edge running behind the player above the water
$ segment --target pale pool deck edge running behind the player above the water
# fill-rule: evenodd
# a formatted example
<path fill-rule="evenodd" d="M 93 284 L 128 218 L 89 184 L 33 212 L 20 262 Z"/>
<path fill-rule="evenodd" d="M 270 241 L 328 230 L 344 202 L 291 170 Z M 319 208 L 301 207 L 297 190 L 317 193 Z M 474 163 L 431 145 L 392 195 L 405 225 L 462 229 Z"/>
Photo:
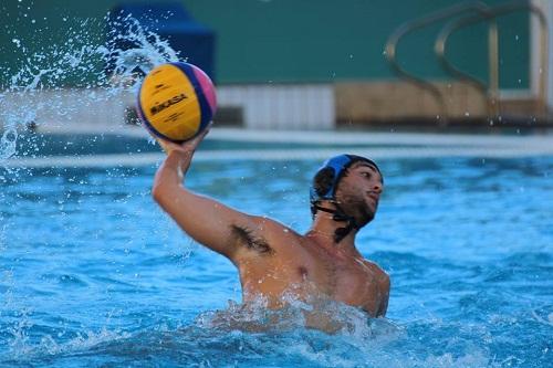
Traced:
<path fill-rule="evenodd" d="M 75 126 L 39 128 L 41 134 L 119 135 L 148 139 L 145 129 L 128 126 Z M 514 130 L 513 130 L 514 132 Z M 300 132 L 247 130 L 215 127 L 206 139 L 249 143 L 296 143 L 319 145 L 313 148 L 217 149 L 201 150 L 195 160 L 298 160 L 325 159 L 349 153 L 375 159 L 424 157 L 532 157 L 553 156 L 553 133 L 544 134 L 452 134 L 452 133 L 383 133 L 383 132 Z M 332 148 L 325 145 L 332 144 Z M 385 147 L 383 147 L 385 146 Z M 147 166 L 163 160 L 160 153 L 125 155 L 13 157 L 0 161 L 3 167 L 117 167 Z"/>

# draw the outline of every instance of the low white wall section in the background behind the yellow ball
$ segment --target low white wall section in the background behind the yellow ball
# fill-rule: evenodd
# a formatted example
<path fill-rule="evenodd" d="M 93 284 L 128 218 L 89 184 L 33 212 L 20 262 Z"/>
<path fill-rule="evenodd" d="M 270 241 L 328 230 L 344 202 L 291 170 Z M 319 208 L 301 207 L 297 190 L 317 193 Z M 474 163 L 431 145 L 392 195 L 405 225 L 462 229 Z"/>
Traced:
<path fill-rule="evenodd" d="M 332 85 L 220 86 L 217 98 L 220 109 L 239 109 L 241 125 L 250 129 L 332 129 L 335 125 Z M 135 104 L 134 93 L 105 90 L 7 93 L 0 99 L 0 108 L 11 111 L 20 127 L 36 123 L 52 129 L 118 127 L 129 122 Z"/>

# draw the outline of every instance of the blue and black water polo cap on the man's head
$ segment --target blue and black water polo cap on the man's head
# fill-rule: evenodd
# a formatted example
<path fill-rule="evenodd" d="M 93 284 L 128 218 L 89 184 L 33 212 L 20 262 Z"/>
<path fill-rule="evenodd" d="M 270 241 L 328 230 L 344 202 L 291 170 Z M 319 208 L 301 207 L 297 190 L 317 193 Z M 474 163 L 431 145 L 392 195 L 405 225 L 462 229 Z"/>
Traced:
<path fill-rule="evenodd" d="M 382 172 L 378 166 L 368 158 L 355 155 L 338 155 L 324 161 L 319 168 L 310 188 L 311 212 L 315 214 L 316 202 L 321 200 L 336 200 L 336 188 L 344 177 L 345 170 L 355 162 L 363 161 L 374 166 L 378 174 Z"/>

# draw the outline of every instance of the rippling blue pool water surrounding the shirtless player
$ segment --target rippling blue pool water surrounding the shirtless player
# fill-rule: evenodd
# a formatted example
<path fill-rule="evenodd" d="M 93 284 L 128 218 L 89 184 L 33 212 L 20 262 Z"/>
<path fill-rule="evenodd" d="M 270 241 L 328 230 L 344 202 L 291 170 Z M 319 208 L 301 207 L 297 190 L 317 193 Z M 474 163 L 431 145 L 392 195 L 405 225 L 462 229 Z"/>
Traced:
<path fill-rule="evenodd" d="M 319 164 L 196 162 L 188 185 L 302 232 Z M 153 202 L 154 167 L 0 169 L 0 366 L 552 367 L 553 157 L 379 164 L 357 244 L 390 274 L 387 318 L 331 305 L 334 335 L 302 305 L 243 311 L 232 265 Z"/>

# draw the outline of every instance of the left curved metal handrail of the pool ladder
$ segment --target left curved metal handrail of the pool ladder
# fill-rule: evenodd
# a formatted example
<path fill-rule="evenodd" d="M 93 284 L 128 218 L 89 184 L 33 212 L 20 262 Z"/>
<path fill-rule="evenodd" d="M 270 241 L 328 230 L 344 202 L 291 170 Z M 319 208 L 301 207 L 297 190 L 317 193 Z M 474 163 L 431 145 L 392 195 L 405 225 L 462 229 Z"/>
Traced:
<path fill-rule="evenodd" d="M 386 42 L 386 59 L 390 63 L 393 70 L 403 76 L 405 80 L 408 82 L 417 85 L 418 87 L 421 87 L 428 92 L 431 93 L 431 95 L 436 98 L 440 106 L 440 115 L 441 115 L 441 122 L 442 124 L 448 123 L 448 112 L 447 112 L 447 104 L 446 101 L 438 87 L 436 87 L 432 83 L 426 81 L 425 78 L 418 77 L 409 72 L 407 72 L 405 69 L 403 69 L 399 63 L 397 62 L 396 57 L 396 49 L 399 40 L 405 36 L 406 34 L 425 28 L 431 23 L 438 22 L 440 20 L 445 20 L 451 17 L 460 15 L 466 12 L 478 12 L 480 14 L 488 14 L 488 9 L 489 7 L 481 2 L 481 1 L 474 1 L 474 2 L 462 2 L 460 4 L 456 4 L 453 7 L 434 12 L 431 14 L 428 14 L 427 17 L 407 22 L 401 24 L 396 31 L 394 31 L 387 42 Z"/>

